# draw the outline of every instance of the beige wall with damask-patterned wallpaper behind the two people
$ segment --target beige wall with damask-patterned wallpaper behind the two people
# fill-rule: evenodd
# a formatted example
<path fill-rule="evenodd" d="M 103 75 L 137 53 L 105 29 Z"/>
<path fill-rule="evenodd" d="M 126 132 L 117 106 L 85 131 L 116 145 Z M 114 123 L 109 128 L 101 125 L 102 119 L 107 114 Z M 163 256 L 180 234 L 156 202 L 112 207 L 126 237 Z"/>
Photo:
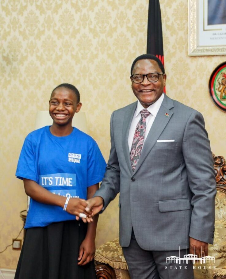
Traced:
<path fill-rule="evenodd" d="M 225 56 L 189 57 L 187 0 L 160 5 L 167 94 L 203 113 L 213 152 L 226 157 L 226 114 L 208 92 L 209 77 Z M 110 114 L 135 101 L 129 71 L 146 52 L 147 9 L 148 0 L 1 1 L 0 250 L 17 236 L 19 212 L 26 208 L 22 182 L 14 176 L 23 140 L 36 111 L 48 109 L 56 85 L 78 87 L 90 135 L 108 158 Z M 100 216 L 97 245 L 117 236 L 116 199 Z M 0 254 L 0 268 L 15 268 L 18 256 L 9 247 Z"/>

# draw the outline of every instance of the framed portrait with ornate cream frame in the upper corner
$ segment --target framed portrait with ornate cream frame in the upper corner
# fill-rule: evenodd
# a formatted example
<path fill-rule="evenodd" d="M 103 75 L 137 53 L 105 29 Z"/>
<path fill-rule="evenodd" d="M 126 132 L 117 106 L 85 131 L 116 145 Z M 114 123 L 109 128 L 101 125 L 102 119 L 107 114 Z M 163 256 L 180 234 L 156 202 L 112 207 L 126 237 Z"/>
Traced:
<path fill-rule="evenodd" d="M 226 1 L 188 0 L 188 54 L 226 54 Z"/>

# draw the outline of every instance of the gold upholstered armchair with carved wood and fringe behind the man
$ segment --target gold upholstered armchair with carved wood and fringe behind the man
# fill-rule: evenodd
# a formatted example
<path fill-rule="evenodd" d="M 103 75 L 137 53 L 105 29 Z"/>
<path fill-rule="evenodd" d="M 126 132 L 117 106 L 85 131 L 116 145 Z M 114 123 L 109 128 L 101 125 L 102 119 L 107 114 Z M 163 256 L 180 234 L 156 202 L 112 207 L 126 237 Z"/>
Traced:
<path fill-rule="evenodd" d="M 226 162 L 224 157 L 213 154 L 216 176 L 215 236 L 209 245 L 209 256 L 215 257 L 208 267 L 194 264 L 195 279 L 226 279 Z M 114 239 L 96 249 L 97 279 L 130 279 L 128 266 L 119 239 Z"/>

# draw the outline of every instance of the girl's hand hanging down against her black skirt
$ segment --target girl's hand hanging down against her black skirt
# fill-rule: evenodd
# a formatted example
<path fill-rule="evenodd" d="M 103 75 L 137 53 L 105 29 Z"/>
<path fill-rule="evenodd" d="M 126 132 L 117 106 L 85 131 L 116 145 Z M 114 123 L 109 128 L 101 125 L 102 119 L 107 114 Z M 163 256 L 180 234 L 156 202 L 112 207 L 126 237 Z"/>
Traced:
<path fill-rule="evenodd" d="M 78 265 L 84 266 L 88 262 L 91 262 L 94 259 L 95 250 L 96 247 L 94 240 L 91 240 L 88 237 L 85 238 L 79 248 Z"/>

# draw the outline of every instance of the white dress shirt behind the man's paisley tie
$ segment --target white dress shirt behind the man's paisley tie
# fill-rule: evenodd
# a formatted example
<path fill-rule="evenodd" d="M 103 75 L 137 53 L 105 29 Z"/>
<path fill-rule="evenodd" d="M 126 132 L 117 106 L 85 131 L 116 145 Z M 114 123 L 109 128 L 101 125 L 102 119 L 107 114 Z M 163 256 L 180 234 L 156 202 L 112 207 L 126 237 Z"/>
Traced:
<path fill-rule="evenodd" d="M 146 133 L 144 136 L 144 142 L 145 139 L 147 138 L 147 135 L 151 129 L 151 126 L 155 120 L 155 117 L 160 109 L 160 106 L 162 105 L 163 102 L 163 98 L 164 98 L 164 93 L 161 95 L 161 97 L 152 105 L 149 105 L 149 107 L 147 108 L 147 110 L 151 113 L 150 115 L 148 115 L 148 117 L 146 117 Z M 137 108 L 136 111 L 133 115 L 132 118 L 132 122 L 129 128 L 129 135 L 128 135 L 128 146 L 129 146 L 129 151 L 131 150 L 132 147 L 132 141 L 133 141 L 133 136 L 136 130 L 136 125 L 137 123 L 140 121 L 141 118 L 141 114 L 140 111 L 144 109 L 143 105 L 141 105 L 141 103 L 139 102 L 139 100 L 137 101 Z M 144 145 L 143 142 L 143 145 Z"/>

